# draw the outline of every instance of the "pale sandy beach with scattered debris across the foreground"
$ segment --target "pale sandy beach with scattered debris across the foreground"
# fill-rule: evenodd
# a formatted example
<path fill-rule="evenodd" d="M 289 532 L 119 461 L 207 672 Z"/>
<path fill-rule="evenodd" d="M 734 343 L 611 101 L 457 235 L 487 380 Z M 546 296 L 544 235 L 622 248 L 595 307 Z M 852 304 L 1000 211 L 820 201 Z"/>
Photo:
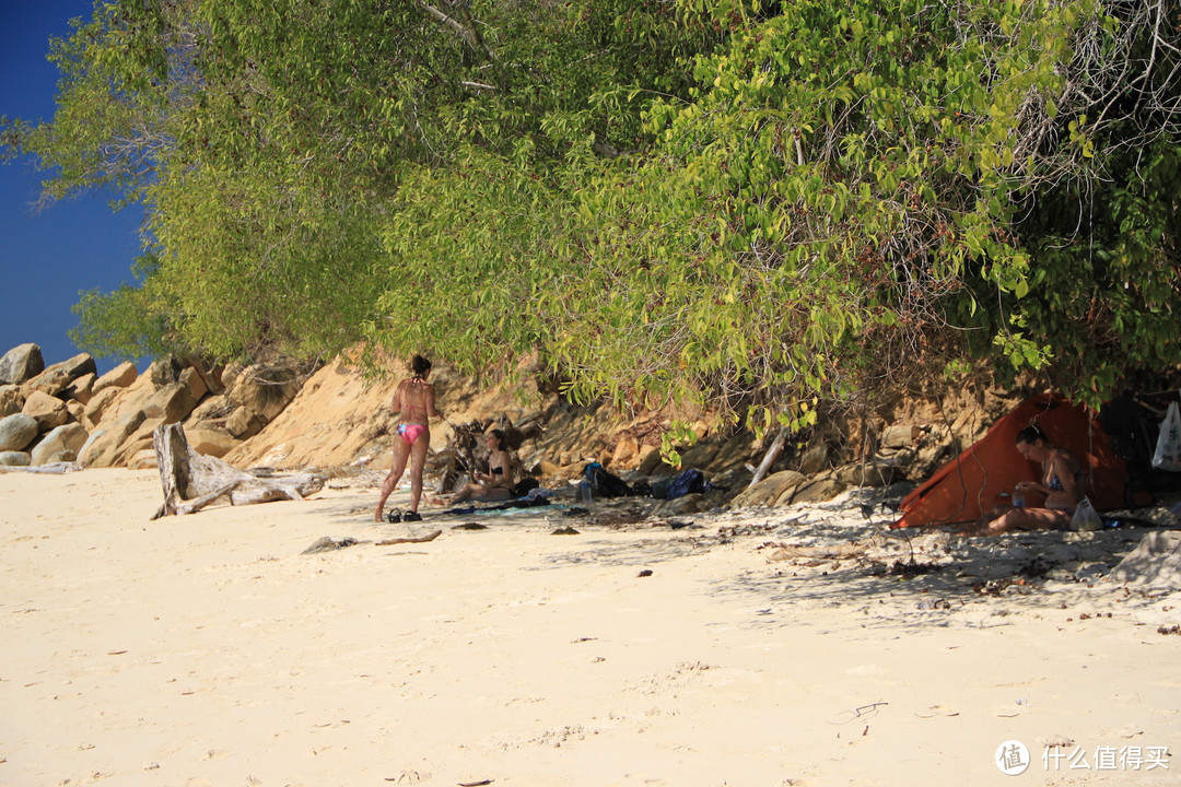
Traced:
<path fill-rule="evenodd" d="M 0 474 L 0 783 L 1181 782 L 1181 593 L 1105 578 L 1142 530 L 374 525 L 338 486 L 151 522 L 155 471 Z"/>

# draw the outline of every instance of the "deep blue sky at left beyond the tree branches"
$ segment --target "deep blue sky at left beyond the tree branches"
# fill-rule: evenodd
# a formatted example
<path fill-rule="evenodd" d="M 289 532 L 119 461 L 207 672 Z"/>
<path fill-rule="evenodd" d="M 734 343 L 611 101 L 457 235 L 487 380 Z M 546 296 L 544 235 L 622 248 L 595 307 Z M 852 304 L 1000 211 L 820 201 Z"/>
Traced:
<path fill-rule="evenodd" d="M 92 0 L 0 0 L 0 114 L 53 117 L 58 71 L 45 59 L 50 37 L 66 37 L 68 20 L 90 19 L 92 8 Z M 66 335 L 78 324 L 71 307 L 79 291 L 133 281 L 143 211 L 115 214 L 99 194 L 38 214 L 30 203 L 44 177 L 28 160 L 0 164 L 0 355 L 33 342 L 48 365 L 79 352 Z M 117 362 L 97 361 L 100 372 Z"/>

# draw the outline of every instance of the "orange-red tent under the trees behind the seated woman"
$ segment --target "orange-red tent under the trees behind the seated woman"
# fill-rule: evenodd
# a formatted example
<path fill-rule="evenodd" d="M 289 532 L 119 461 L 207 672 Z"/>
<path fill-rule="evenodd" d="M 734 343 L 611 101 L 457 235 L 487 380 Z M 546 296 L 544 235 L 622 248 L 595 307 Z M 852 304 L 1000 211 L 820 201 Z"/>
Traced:
<path fill-rule="evenodd" d="M 1017 433 L 1037 424 L 1046 439 L 1078 457 L 1087 494 L 1101 511 L 1123 506 L 1127 468 L 1098 418 L 1062 396 L 1027 399 L 992 425 L 979 442 L 951 460 L 899 505 L 893 527 L 978 522 L 1017 481 L 1040 480 L 1040 467 L 1017 453 Z"/>

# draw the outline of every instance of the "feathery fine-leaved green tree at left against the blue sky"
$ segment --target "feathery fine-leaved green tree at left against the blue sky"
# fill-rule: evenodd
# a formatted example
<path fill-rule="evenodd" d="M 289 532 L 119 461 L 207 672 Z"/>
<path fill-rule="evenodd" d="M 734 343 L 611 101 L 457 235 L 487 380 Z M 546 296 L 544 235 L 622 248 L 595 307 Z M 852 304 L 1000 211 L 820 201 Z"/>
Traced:
<path fill-rule="evenodd" d="M 659 1 L 98 4 L 54 45 L 53 123 L 19 144 L 51 197 L 142 201 L 157 264 L 151 297 L 89 294 L 80 335 L 138 303 L 163 319 L 139 324 L 221 356 L 339 350 L 387 323 L 378 296 L 404 265 L 423 270 L 381 242 L 417 199 L 404 181 L 457 178 L 474 156 L 553 179 L 574 146 L 644 144 L 642 100 L 615 88 L 687 85 L 678 58 L 716 32 L 678 20 Z"/>

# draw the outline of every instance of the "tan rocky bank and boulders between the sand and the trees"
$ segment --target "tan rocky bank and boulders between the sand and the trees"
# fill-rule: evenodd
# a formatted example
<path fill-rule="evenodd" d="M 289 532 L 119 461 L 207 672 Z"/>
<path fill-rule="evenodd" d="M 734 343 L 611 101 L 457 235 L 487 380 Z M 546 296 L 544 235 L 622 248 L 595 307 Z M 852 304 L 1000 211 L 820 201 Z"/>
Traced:
<path fill-rule="evenodd" d="M 97 375 L 93 359 L 85 354 L 39 368 L 44 363 L 35 345 L 13 348 L 4 358 L 4 374 L 21 381 L 0 385 L 0 452 L 22 454 L 5 461 L 44 464 L 74 454 L 81 465 L 96 467 L 152 466 L 154 429 L 181 424 L 195 451 L 237 467 L 384 472 L 396 439 L 390 404 L 397 381 L 406 375 L 396 362 L 387 378 L 374 379 L 344 361 L 319 369 L 222 368 L 196 359 L 161 360 L 143 374 L 123 363 Z M 628 481 L 659 481 L 679 470 L 661 461 L 661 435 L 673 419 L 692 424 L 696 439 L 677 446 L 681 467 L 702 470 L 717 488 L 661 504 L 667 513 L 718 505 L 781 506 L 828 499 L 853 486 L 919 480 L 979 437 L 1013 401 L 965 386 L 942 398 L 900 398 L 861 420 L 830 419 L 824 428 L 792 435 L 768 478 L 746 488 L 770 441 L 720 425 L 707 412 L 575 406 L 529 363 L 500 382 L 474 380 L 439 363 L 431 381 L 446 417 L 432 424 L 428 472 L 436 477 L 455 459 L 451 425 L 459 424 L 469 435 L 470 428 L 510 428 L 518 438 L 522 468 L 546 486 L 578 479 L 592 461 Z M 5 426 L 13 415 L 21 420 Z M 6 431 L 9 437 L 4 438 Z"/>

